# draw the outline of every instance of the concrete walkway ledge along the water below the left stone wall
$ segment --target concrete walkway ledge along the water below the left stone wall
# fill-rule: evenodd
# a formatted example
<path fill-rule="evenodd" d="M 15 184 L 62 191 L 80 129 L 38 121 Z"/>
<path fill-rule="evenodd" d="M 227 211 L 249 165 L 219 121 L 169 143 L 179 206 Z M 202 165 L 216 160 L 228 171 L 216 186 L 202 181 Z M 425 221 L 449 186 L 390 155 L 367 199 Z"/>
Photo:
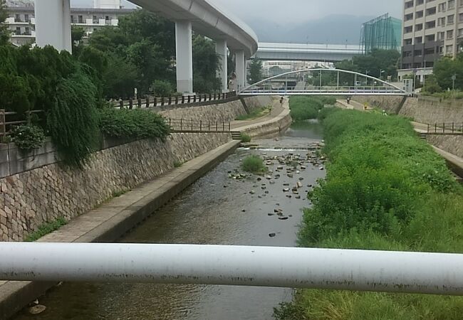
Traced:
<path fill-rule="evenodd" d="M 279 111 L 280 113 L 277 114 L 276 117 L 259 119 L 260 122 L 241 125 L 239 122 L 234 122 L 235 129 L 250 130 L 251 132 L 255 131 L 260 134 L 273 134 L 274 127 L 278 127 L 279 130 L 280 128 L 283 129 L 281 123 L 286 123 L 288 121 L 286 109 L 283 108 L 283 110 Z M 189 141 L 186 138 L 188 135 L 194 135 L 199 140 L 202 140 L 202 142 L 195 142 L 194 146 L 202 146 L 204 142 L 209 141 L 207 140 L 207 134 L 176 135 L 181 137 L 181 141 L 184 142 Z M 134 186 L 131 191 L 123 194 L 123 196 L 103 203 L 103 205 L 95 208 L 95 210 L 90 210 L 88 213 L 74 218 L 68 225 L 41 238 L 39 241 L 100 242 L 113 241 L 119 238 L 123 233 L 152 214 L 156 208 L 160 208 L 160 206 L 174 198 L 197 178 L 212 169 L 239 146 L 239 142 L 230 141 L 231 137 L 229 137 L 229 134 L 225 135 L 227 135 L 227 140 L 224 141 L 225 144 L 222 144 L 222 146 L 199 157 L 195 157 L 195 154 L 189 153 L 189 156 L 192 156 L 194 159 L 189 158 L 192 160 L 188 159 L 189 161 L 176 169 L 168 169 L 161 176 L 158 174 L 155 180 L 147 182 L 142 186 Z M 143 144 L 144 142 L 136 143 Z M 143 148 L 143 146 L 140 146 L 140 148 Z M 157 146 L 157 149 L 159 148 L 160 146 Z M 186 149 L 184 149 L 183 152 L 185 150 Z M 109 151 L 111 151 L 111 149 L 109 149 Z M 157 156 L 149 157 L 149 159 L 157 159 Z M 148 159 L 146 161 L 148 161 Z M 170 166 L 170 168 L 174 167 L 173 161 L 169 161 L 167 165 Z M 150 166 L 152 166 L 152 164 L 150 164 Z M 121 170 L 125 169 L 124 166 L 120 168 Z M 136 174 L 135 176 L 140 175 Z M 83 193 L 83 190 L 79 192 Z M 16 311 L 19 311 L 19 309 L 33 301 L 33 299 L 36 299 L 36 297 L 43 294 L 46 289 L 53 285 L 52 283 L 38 282 L 0 282 L 0 319 L 8 319 L 16 313 Z"/>

